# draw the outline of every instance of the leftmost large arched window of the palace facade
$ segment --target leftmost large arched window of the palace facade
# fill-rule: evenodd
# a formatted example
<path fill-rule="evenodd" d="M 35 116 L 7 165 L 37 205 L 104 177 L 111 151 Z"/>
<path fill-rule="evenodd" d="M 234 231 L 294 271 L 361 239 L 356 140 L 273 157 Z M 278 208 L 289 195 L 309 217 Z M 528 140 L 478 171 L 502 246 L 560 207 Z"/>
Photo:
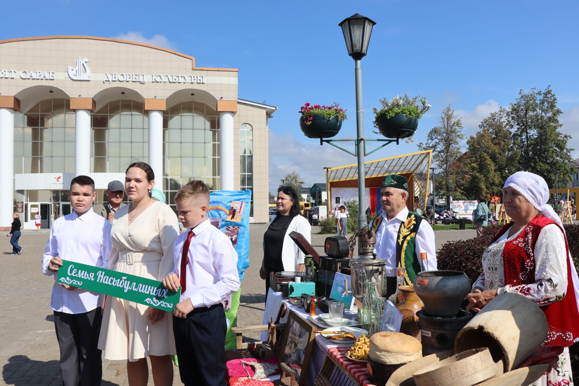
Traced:
<path fill-rule="evenodd" d="M 14 113 L 14 174 L 74 172 L 74 126 L 67 99 Z"/>

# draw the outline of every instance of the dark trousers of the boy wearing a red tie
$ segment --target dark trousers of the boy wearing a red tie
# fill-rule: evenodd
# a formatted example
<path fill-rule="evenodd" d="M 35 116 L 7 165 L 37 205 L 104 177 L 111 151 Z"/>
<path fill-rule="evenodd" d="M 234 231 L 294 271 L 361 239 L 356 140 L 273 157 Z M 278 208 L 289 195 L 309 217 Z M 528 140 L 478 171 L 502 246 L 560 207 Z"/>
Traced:
<path fill-rule="evenodd" d="M 187 317 L 173 317 L 179 375 L 185 386 L 226 386 L 225 333 L 221 303 L 195 308 Z"/>

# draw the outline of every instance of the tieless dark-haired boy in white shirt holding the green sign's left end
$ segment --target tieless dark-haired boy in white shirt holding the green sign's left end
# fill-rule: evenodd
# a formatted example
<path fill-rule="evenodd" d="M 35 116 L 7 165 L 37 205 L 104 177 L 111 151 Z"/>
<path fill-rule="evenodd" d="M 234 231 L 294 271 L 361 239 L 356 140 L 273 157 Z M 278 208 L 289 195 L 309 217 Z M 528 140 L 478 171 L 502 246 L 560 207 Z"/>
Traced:
<path fill-rule="evenodd" d="M 79 175 L 68 191 L 73 212 L 56 219 L 42 256 L 42 272 L 54 276 L 50 308 L 60 347 L 60 370 L 64 385 L 100 385 L 102 378 L 102 295 L 58 282 L 63 260 L 108 268 L 111 224 L 93 212 L 97 196 L 94 181 Z"/>

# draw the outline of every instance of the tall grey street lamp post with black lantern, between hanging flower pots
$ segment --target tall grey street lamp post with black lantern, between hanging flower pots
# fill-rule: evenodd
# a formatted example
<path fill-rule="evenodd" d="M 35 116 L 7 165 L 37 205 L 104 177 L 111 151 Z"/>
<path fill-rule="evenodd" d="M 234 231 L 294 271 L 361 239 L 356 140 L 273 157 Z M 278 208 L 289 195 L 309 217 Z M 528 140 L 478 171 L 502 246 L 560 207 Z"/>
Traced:
<path fill-rule="evenodd" d="M 356 13 L 342 23 L 338 24 L 342 27 L 344 40 L 346 41 L 346 48 L 348 54 L 354 59 L 354 76 L 356 79 L 356 129 L 357 129 L 357 156 L 358 156 L 358 230 L 361 230 L 367 223 L 364 207 L 366 204 L 366 184 L 364 173 L 364 122 L 362 108 L 362 68 L 360 67 L 360 60 L 366 56 L 368 52 L 368 44 L 370 42 L 370 35 L 372 34 L 372 27 L 376 23 L 368 17 L 364 17 Z"/>

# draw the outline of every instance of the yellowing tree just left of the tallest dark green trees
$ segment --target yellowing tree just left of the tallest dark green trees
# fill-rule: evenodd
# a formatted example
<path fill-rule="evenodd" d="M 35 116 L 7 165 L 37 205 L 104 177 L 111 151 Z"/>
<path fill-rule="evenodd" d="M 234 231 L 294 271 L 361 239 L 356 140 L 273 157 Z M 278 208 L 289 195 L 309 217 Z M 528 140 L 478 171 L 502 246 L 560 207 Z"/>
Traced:
<path fill-rule="evenodd" d="M 467 156 L 461 162 L 461 188 L 467 197 L 500 196 L 504 181 L 518 168 L 519 152 L 512 148 L 505 115 L 503 108 L 491 113 L 467 141 Z"/>

